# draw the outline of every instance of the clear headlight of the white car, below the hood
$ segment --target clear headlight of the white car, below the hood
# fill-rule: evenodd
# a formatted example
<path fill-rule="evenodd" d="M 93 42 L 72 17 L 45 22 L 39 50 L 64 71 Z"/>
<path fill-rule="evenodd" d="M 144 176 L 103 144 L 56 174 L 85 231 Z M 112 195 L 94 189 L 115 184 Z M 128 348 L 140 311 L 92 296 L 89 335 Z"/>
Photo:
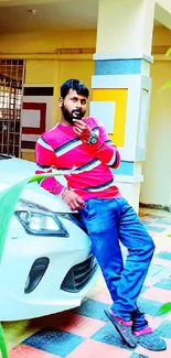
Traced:
<path fill-rule="evenodd" d="M 30 235 L 68 237 L 58 216 L 41 205 L 20 199 L 14 215 Z"/>

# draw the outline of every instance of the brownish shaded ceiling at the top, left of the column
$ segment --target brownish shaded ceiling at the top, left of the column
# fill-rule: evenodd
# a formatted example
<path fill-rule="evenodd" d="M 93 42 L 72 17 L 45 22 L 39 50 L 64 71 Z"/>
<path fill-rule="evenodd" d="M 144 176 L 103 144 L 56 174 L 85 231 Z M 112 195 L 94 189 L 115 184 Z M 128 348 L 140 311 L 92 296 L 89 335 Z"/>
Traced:
<path fill-rule="evenodd" d="M 97 14 L 98 0 L 0 0 L 0 34 L 94 30 Z"/>

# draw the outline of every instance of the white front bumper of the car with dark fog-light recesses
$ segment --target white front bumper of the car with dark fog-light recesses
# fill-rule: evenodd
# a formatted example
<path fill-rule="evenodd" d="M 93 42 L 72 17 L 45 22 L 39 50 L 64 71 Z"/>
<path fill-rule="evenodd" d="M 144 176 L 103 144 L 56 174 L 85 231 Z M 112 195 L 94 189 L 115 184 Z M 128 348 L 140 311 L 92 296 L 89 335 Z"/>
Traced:
<path fill-rule="evenodd" d="M 70 220 L 63 219 L 63 224 L 70 238 L 33 237 L 13 217 L 0 269 L 0 321 L 33 318 L 76 307 L 95 284 L 99 271 L 90 256 L 89 238 Z M 49 260 L 46 270 L 26 293 L 31 269 L 42 258 Z"/>

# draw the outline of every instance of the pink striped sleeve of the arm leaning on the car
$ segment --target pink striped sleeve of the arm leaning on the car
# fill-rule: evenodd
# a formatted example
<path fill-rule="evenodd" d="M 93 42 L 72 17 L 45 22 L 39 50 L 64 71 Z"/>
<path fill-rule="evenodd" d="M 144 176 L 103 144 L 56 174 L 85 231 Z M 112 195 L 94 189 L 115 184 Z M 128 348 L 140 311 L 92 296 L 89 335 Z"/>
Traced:
<path fill-rule="evenodd" d="M 35 174 L 52 173 L 52 167 L 55 164 L 54 155 L 55 154 L 53 148 L 47 142 L 45 142 L 43 137 L 40 137 L 35 145 Z M 45 191 L 56 195 L 60 194 L 64 187 L 56 181 L 54 176 L 43 178 L 40 182 L 40 186 L 42 186 Z"/>

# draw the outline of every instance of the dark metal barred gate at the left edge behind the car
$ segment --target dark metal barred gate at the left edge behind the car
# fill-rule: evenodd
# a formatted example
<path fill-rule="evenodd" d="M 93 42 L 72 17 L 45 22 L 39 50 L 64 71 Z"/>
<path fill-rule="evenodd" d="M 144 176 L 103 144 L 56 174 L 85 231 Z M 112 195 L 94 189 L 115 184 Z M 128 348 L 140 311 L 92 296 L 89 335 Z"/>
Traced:
<path fill-rule="evenodd" d="M 20 156 L 24 63 L 0 59 L 0 153 Z"/>

